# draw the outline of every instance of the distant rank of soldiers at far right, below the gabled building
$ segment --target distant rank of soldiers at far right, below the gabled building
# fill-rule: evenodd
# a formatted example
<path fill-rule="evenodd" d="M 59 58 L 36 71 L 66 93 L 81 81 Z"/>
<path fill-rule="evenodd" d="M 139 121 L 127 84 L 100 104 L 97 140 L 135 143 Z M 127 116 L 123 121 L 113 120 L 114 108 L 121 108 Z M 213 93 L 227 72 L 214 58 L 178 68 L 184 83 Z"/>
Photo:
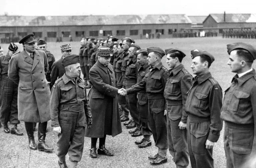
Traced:
<path fill-rule="evenodd" d="M 256 39 L 256 30 L 227 30 L 223 31 L 222 38 Z"/>

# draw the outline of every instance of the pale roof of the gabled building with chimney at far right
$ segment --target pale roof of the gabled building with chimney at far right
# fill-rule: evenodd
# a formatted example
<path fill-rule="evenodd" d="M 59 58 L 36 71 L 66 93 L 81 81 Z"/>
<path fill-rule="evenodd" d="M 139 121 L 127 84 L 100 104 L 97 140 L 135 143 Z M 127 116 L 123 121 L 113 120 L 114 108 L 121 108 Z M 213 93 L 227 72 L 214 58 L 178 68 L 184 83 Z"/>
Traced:
<path fill-rule="evenodd" d="M 224 22 L 224 13 L 222 14 L 209 14 L 217 23 Z M 208 17 L 209 17 L 208 16 Z M 207 17 L 207 18 L 208 18 Z M 207 19 L 206 18 L 206 19 Z M 225 22 L 229 23 L 256 23 L 256 14 L 246 13 L 226 13 Z"/>

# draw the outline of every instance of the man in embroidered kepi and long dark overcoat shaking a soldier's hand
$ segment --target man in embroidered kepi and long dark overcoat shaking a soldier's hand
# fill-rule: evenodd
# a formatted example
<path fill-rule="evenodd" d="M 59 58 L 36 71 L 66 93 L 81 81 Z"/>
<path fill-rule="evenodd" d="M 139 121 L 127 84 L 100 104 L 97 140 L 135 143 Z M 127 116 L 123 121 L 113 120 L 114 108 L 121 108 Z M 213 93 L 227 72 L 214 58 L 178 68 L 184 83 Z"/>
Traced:
<path fill-rule="evenodd" d="M 98 154 L 113 156 L 105 148 L 106 135 L 116 136 L 122 132 L 118 112 L 117 93 L 115 87 L 115 74 L 110 61 L 110 48 L 98 48 L 98 61 L 89 71 L 92 88 L 89 91 L 89 104 L 94 121 L 91 128 L 85 130 L 85 136 L 91 137 L 91 152 L 93 158 L 97 157 L 96 143 L 99 138 Z"/>

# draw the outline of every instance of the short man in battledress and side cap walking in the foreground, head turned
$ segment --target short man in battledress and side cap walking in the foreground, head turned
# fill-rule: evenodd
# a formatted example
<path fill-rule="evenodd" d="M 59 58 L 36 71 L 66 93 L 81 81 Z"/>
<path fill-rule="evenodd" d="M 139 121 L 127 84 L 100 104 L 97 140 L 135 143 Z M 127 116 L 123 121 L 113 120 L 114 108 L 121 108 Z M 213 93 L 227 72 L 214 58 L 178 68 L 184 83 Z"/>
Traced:
<path fill-rule="evenodd" d="M 70 167 L 77 167 L 84 148 L 85 127 L 92 124 L 85 84 L 80 76 L 79 55 L 63 58 L 66 73 L 56 80 L 51 91 L 50 112 L 53 130 L 58 132 L 56 154 L 60 168 L 67 168 L 65 156 L 69 154 Z M 87 120 L 87 121 L 86 121 Z"/>

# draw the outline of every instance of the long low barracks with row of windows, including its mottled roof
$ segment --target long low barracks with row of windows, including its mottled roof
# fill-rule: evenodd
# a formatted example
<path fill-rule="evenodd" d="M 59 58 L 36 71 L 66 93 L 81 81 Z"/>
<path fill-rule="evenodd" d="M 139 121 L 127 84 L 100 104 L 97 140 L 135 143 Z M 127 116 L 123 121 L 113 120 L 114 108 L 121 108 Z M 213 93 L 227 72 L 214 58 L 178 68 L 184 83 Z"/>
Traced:
<path fill-rule="evenodd" d="M 131 37 L 145 39 L 146 34 L 161 33 L 172 38 L 173 32 L 191 27 L 186 15 L 90 15 L 90 16 L 0 16 L 0 38 L 24 37 L 34 33 L 47 42 L 80 41 L 81 37 Z"/>

